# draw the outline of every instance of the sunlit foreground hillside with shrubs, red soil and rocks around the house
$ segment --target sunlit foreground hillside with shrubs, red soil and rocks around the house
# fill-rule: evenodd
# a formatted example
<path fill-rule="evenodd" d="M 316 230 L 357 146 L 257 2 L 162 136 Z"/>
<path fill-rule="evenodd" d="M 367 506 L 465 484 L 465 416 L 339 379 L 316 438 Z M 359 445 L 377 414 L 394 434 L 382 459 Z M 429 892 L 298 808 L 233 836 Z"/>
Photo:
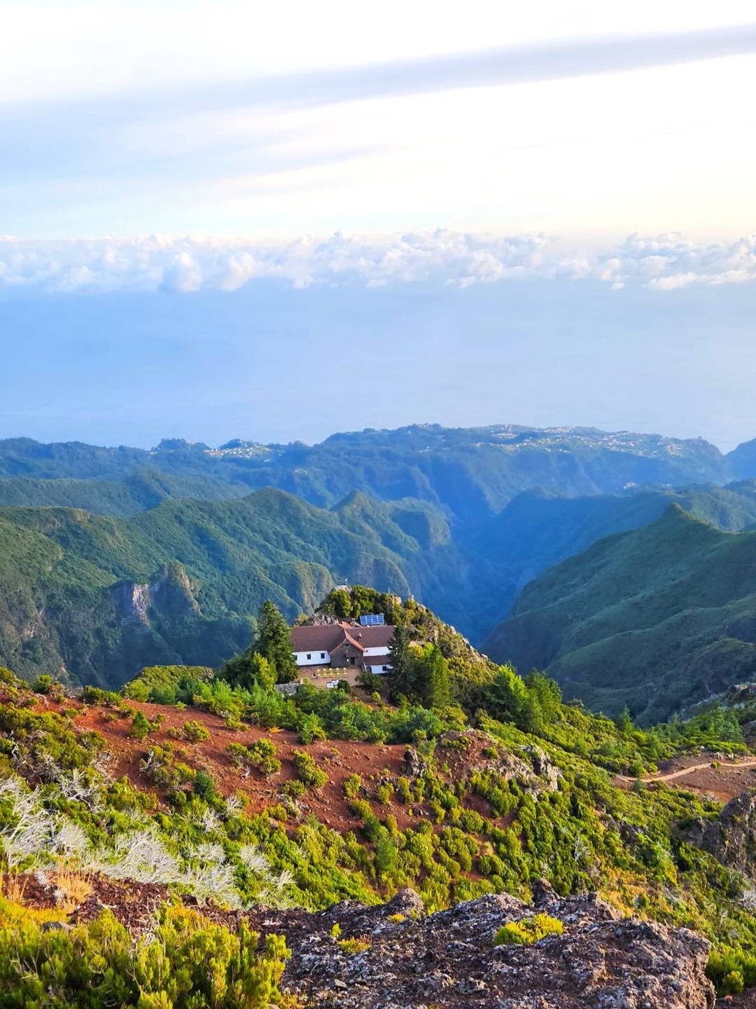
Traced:
<path fill-rule="evenodd" d="M 0 669 L 4 1004 L 325 1009 L 336 992 L 370 1009 L 388 986 L 449 1009 L 469 993 L 704 1009 L 712 981 L 756 981 L 738 861 L 753 828 L 703 789 L 653 784 L 659 762 L 684 773 L 716 747 L 731 787 L 753 763 L 739 717 L 611 721 L 414 601 L 341 601 L 363 597 L 460 703 L 406 670 L 382 693 L 283 696 L 263 636 L 215 673 L 151 667 L 122 693 L 48 677 L 32 692 Z"/>

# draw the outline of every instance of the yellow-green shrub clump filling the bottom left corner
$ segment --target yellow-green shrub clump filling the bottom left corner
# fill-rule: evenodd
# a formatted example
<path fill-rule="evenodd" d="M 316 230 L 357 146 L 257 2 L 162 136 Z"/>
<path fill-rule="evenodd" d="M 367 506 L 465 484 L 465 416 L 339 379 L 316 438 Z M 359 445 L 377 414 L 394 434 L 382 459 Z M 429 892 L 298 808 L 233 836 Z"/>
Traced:
<path fill-rule="evenodd" d="M 25 920 L 0 929 L 0 987 L 7 1009 L 268 1009 L 288 1005 L 280 981 L 285 941 L 238 932 L 186 908 L 163 908 L 154 932 L 134 944 L 105 911 L 70 932 Z M 19 970 L 19 966 L 23 969 Z"/>

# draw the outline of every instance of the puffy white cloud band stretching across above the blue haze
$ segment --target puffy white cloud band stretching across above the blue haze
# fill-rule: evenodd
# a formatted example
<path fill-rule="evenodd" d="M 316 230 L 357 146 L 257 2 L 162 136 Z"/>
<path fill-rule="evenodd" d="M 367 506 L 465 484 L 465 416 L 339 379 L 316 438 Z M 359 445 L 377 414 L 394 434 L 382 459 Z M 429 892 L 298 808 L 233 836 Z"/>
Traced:
<path fill-rule="evenodd" d="M 380 288 L 439 283 L 461 290 L 515 278 L 598 281 L 670 292 L 756 282 L 756 236 L 694 242 L 678 235 L 629 237 L 591 254 L 543 235 L 500 237 L 437 230 L 376 237 L 79 239 L 0 238 L 0 290 L 47 294 L 238 291 L 261 279 Z"/>

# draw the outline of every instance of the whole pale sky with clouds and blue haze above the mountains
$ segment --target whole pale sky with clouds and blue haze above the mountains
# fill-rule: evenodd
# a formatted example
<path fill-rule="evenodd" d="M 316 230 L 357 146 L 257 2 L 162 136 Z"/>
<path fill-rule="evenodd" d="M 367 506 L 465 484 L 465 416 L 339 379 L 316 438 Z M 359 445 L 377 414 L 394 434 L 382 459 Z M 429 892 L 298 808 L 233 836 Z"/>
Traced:
<path fill-rule="evenodd" d="M 0 437 L 756 436 L 754 79 L 740 0 L 5 4 Z"/>

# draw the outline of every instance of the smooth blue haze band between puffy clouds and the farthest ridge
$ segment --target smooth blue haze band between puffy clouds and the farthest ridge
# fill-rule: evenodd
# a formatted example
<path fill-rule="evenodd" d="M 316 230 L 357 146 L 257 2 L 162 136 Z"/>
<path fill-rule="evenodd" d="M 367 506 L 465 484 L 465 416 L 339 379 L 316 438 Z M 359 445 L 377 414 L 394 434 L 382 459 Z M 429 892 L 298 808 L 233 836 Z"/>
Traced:
<path fill-rule="evenodd" d="M 424 283 L 0 299 L 0 433 L 149 447 L 416 421 L 756 432 L 751 285 Z"/>

